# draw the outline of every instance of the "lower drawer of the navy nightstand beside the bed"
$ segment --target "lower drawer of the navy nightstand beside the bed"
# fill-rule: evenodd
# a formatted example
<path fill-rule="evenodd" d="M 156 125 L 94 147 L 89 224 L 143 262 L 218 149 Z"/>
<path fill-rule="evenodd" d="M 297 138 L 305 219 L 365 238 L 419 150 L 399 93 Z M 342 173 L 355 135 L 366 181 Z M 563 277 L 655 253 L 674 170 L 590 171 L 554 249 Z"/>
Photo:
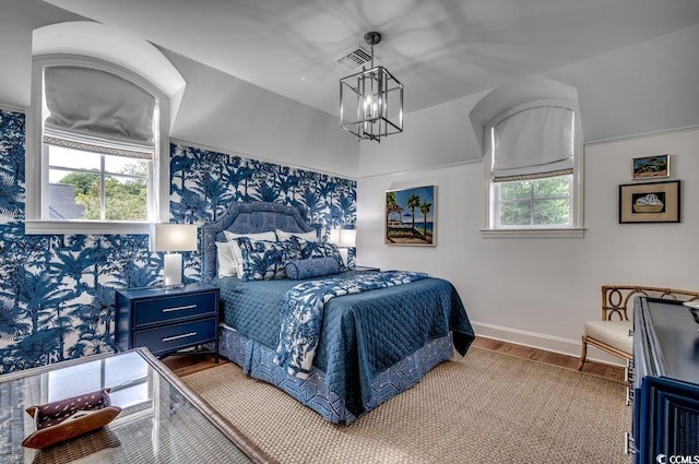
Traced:
<path fill-rule="evenodd" d="M 133 333 L 133 347 L 147 346 L 155 355 L 216 338 L 216 318 L 171 324 Z"/>

